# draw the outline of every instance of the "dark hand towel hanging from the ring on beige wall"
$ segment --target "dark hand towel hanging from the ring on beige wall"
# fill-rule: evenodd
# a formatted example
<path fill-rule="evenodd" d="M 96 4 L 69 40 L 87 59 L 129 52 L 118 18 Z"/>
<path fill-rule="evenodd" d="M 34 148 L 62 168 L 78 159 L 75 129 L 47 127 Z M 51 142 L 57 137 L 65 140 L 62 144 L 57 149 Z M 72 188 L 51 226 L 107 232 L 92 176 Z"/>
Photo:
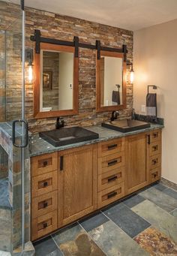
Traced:
<path fill-rule="evenodd" d="M 146 96 L 146 109 L 148 116 L 157 116 L 157 94 L 148 93 Z"/>

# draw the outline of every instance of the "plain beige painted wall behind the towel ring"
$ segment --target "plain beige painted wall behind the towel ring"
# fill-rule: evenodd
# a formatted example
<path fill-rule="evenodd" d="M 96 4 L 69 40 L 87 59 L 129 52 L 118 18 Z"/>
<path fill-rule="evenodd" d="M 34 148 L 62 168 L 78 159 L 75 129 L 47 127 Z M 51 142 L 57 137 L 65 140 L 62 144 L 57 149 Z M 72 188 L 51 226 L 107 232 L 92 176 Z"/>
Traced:
<path fill-rule="evenodd" d="M 158 86 L 157 116 L 165 120 L 162 176 L 177 183 L 177 20 L 134 32 L 134 70 L 136 113 L 142 113 L 147 85 Z"/>

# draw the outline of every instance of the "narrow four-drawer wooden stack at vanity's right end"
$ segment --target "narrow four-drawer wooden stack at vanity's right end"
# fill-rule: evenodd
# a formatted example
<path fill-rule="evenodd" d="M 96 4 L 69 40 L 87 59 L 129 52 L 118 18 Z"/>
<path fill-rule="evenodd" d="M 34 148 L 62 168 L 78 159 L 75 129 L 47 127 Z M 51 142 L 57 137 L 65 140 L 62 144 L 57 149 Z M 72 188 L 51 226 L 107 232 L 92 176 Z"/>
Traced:
<path fill-rule="evenodd" d="M 160 179 L 161 174 L 161 131 L 155 130 L 150 133 L 149 140 L 149 170 L 150 183 Z"/>

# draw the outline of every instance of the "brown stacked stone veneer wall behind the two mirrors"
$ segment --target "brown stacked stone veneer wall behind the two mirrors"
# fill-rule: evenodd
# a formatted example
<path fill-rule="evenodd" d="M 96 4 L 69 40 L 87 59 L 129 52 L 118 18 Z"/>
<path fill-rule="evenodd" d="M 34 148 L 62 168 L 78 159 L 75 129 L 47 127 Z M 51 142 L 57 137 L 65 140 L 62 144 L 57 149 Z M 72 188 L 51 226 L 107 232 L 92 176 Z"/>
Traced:
<path fill-rule="evenodd" d="M 19 18 L 19 8 L 17 5 L 1 2 L 1 10 L 5 17 L 1 23 L 0 29 L 5 29 L 5 24 L 13 22 L 14 18 Z M 7 11 L 8 10 L 8 11 Z M 0 14 L 1 18 L 1 14 Z M 34 42 L 30 41 L 30 35 L 34 34 L 34 29 L 40 29 L 41 34 L 47 38 L 55 38 L 67 41 L 73 41 L 74 36 L 80 38 L 80 42 L 95 44 L 96 40 L 101 40 L 101 45 L 107 47 L 122 47 L 127 45 L 127 59 L 133 62 L 133 32 L 118 29 L 111 26 L 105 26 L 98 23 L 92 23 L 86 20 L 80 20 L 73 17 L 66 17 L 60 14 L 53 14 L 46 11 L 38 11 L 32 8 L 26 8 L 26 47 L 34 48 Z M 20 44 L 20 39 L 14 36 L 14 42 Z M 18 53 L 15 52 L 17 55 Z M 13 76 L 13 85 L 17 88 L 16 94 L 9 95 L 9 107 L 7 110 L 7 120 L 15 118 L 15 111 L 20 113 L 20 77 L 14 78 L 14 72 L 20 74 L 20 56 L 17 57 L 17 64 L 9 70 Z M 110 113 L 96 113 L 96 51 L 80 48 L 79 51 L 79 114 L 77 116 L 65 117 L 67 125 L 96 125 L 110 118 Z M 19 71 L 19 72 L 18 72 Z M 12 85 L 12 89 L 14 88 Z M 11 91 L 10 91 L 11 92 Z M 120 111 L 120 118 L 130 116 L 133 106 L 133 86 L 127 83 L 127 108 Z M 55 128 L 55 118 L 34 119 L 33 116 L 33 85 L 26 84 L 26 117 L 29 123 L 30 131 L 37 132 Z"/>

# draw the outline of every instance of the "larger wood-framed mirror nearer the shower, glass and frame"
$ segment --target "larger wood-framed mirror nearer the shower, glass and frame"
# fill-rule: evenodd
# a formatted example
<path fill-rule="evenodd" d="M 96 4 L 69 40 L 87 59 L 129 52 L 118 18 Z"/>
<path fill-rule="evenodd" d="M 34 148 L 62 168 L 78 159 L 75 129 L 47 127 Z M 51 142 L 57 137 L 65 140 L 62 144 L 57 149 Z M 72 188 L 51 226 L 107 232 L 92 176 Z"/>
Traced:
<path fill-rule="evenodd" d="M 34 54 L 34 117 L 78 113 L 78 58 L 74 47 L 40 43 Z"/>

